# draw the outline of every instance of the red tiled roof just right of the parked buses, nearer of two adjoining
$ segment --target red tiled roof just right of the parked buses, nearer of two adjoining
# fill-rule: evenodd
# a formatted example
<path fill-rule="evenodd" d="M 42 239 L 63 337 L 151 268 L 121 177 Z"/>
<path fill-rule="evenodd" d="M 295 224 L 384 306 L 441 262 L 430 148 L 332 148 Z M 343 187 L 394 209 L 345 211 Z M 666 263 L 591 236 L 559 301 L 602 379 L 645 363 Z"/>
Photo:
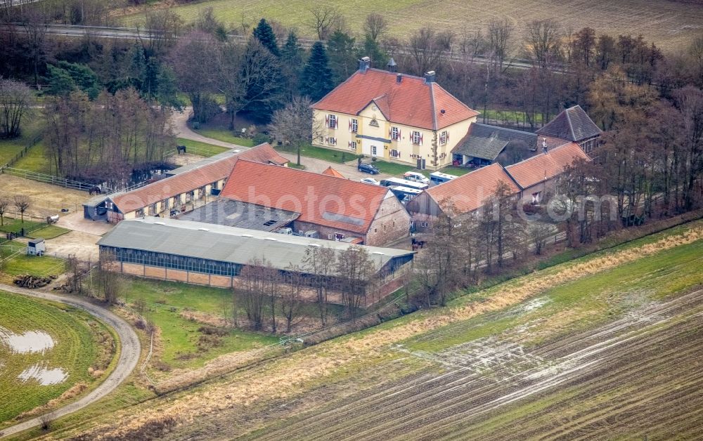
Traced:
<path fill-rule="evenodd" d="M 491 164 L 449 182 L 430 187 L 427 189 L 427 194 L 437 204 L 449 199 L 456 211 L 468 213 L 479 209 L 490 199 L 501 180 L 508 184 L 512 194 L 520 192 L 520 188 L 510 179 L 508 173 L 505 173 L 500 164 Z"/>

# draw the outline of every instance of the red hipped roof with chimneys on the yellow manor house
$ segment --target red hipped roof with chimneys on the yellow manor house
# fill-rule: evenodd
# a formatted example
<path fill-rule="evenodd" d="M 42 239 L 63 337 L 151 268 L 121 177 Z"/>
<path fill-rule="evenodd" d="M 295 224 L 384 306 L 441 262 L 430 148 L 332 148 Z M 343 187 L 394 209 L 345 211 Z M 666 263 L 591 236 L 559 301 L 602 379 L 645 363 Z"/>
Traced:
<path fill-rule="evenodd" d="M 442 129 L 479 114 L 437 83 L 426 83 L 424 78 L 411 75 L 403 75 L 399 83 L 396 75 L 378 69 L 356 71 L 312 107 L 359 114 L 374 100 L 389 121 L 428 130 Z"/>

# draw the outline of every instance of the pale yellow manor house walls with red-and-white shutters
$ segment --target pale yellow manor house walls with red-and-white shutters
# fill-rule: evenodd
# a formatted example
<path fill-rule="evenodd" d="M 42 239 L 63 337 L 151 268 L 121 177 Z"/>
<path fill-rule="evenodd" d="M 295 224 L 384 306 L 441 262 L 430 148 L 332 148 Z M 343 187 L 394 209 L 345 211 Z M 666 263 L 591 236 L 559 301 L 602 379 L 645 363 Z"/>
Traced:
<path fill-rule="evenodd" d="M 424 159 L 426 169 L 451 165 L 451 150 L 476 121 L 476 117 L 472 117 L 437 131 L 418 129 L 388 121 L 375 103 L 370 103 L 358 115 L 316 109 L 313 112 L 314 127 L 321 128 L 313 145 L 408 166 L 417 166 L 418 159 Z M 331 116 L 336 119 L 335 128 L 330 127 Z M 352 128 L 354 120 L 356 131 Z M 400 133 L 397 140 L 392 139 L 394 128 Z M 413 143 L 415 131 L 420 133 L 421 143 Z M 440 140 L 445 131 L 447 142 L 442 144 Z"/>

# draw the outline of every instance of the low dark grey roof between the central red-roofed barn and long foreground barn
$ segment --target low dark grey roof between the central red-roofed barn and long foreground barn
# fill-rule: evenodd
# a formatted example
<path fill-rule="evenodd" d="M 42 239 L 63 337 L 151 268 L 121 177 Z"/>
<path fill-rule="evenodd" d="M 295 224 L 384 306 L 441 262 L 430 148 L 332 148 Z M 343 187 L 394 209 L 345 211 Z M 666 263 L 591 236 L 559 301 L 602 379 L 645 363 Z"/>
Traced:
<path fill-rule="evenodd" d="M 196 221 L 248 228 L 250 230 L 275 231 L 295 221 L 300 213 L 272 209 L 249 202 L 218 198 L 190 213 L 178 216 L 181 221 Z"/>

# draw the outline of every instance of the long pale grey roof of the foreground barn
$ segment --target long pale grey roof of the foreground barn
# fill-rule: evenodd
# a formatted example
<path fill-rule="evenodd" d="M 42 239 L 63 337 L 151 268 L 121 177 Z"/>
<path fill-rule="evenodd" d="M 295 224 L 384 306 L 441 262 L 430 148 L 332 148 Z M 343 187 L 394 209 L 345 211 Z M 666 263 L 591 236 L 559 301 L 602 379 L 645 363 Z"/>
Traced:
<path fill-rule="evenodd" d="M 104 235 L 98 245 L 175 254 L 212 261 L 246 265 L 252 258 L 266 258 L 273 268 L 285 270 L 291 263 L 304 265 L 311 246 L 326 246 L 337 252 L 349 248 L 344 242 L 247 230 L 192 221 L 142 218 L 122 221 Z M 377 268 L 413 251 L 363 246 Z"/>

